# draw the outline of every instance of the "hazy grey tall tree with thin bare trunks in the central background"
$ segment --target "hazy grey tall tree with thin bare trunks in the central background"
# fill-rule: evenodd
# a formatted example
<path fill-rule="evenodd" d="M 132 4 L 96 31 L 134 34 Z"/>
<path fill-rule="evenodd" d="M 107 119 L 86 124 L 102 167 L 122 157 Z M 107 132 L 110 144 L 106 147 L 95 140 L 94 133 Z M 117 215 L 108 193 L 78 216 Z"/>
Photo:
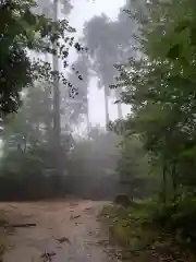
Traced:
<path fill-rule="evenodd" d="M 93 60 L 93 68 L 96 71 L 100 87 L 105 88 L 106 122 L 109 122 L 108 97 L 110 95 L 109 85 L 114 82 L 118 71 L 114 64 L 126 61 L 131 56 L 135 56 L 134 34 L 137 31 L 137 23 L 128 20 L 124 9 L 130 9 L 127 3 L 120 10 L 119 19 L 115 22 L 110 21 L 106 15 L 95 16 L 88 23 L 84 31 L 84 41 L 87 43 Z M 115 90 L 115 97 L 119 102 L 118 115 L 122 118 L 121 90 Z"/>

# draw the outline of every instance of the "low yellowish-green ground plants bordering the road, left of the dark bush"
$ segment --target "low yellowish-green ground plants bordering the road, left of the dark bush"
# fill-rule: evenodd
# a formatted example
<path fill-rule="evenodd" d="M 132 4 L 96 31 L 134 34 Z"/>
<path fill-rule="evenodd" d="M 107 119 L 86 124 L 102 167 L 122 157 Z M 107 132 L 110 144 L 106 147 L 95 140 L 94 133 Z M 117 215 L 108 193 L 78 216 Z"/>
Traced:
<path fill-rule="evenodd" d="M 158 203 L 156 206 L 159 206 Z M 100 218 L 109 225 L 110 242 L 123 247 L 118 258 L 134 262 L 195 261 L 194 254 L 180 246 L 173 234 L 167 233 L 164 228 L 160 230 L 151 224 L 150 212 L 151 202 L 150 205 L 138 203 L 128 209 L 113 205 L 103 207 Z"/>

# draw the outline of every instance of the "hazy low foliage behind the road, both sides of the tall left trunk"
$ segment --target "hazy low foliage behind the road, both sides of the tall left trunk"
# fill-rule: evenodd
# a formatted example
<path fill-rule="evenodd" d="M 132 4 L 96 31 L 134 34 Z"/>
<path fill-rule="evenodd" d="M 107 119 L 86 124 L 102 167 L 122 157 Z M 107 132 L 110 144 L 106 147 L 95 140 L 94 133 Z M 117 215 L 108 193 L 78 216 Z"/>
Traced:
<path fill-rule="evenodd" d="M 118 191 L 114 174 L 118 136 L 95 128 L 91 139 L 74 141 L 72 135 L 62 132 L 60 157 L 63 162 L 58 190 L 57 167 L 51 162 L 56 155 L 47 87 L 36 86 L 29 91 L 23 107 L 3 131 L 0 200 L 36 200 L 69 193 L 90 199 L 113 198 Z"/>

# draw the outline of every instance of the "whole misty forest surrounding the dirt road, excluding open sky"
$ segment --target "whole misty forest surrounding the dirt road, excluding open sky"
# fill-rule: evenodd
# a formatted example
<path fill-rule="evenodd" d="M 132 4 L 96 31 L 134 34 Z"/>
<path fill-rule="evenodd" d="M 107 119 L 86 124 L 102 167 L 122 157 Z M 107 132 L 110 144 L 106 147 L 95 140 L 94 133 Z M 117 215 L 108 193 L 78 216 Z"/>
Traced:
<path fill-rule="evenodd" d="M 117 21 L 94 16 L 79 38 L 72 8 L 0 2 L 0 200 L 125 193 L 128 207 L 101 216 L 128 255 L 195 261 L 196 2 L 127 0 Z M 91 78 L 105 128 L 90 123 Z"/>

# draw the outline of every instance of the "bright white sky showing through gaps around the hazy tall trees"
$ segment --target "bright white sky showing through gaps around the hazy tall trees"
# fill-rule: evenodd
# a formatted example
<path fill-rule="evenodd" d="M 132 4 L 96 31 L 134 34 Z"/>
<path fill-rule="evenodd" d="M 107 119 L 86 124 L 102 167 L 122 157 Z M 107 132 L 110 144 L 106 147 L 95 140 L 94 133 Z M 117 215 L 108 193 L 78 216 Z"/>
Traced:
<path fill-rule="evenodd" d="M 74 1 L 73 10 L 70 14 L 70 22 L 76 28 L 76 35 L 78 38 L 84 37 L 85 23 L 89 22 L 94 16 L 101 17 L 106 15 L 111 23 L 119 22 L 119 15 L 122 12 L 122 8 L 125 5 L 124 0 L 120 1 Z M 102 16 L 103 17 L 103 16 Z M 124 20 L 128 20 L 127 15 L 124 13 Z M 102 19 L 103 21 L 103 19 Z M 130 23 L 132 23 L 130 21 Z M 113 25 L 114 26 L 114 25 Z M 106 28 L 106 27 L 105 27 Z M 107 29 L 107 28 L 106 28 Z M 124 28 L 128 31 L 127 28 Z M 127 32 L 126 32 L 127 33 Z M 96 32 L 94 32 L 96 34 Z M 131 32 L 128 33 L 131 34 Z M 94 37 L 94 36 L 93 36 Z M 117 35 L 118 37 L 118 35 Z M 102 44 L 107 43 L 107 37 L 102 37 Z M 118 45 L 118 43 L 115 43 Z M 89 47 L 88 47 L 89 48 Z M 72 55 L 71 60 L 76 60 L 76 56 Z M 110 64 L 110 69 L 112 70 L 113 64 Z M 117 72 L 113 73 L 113 78 L 117 75 Z M 99 74 L 97 75 L 99 78 Z M 98 83 L 96 76 L 90 78 L 89 83 L 89 119 L 91 124 L 99 123 L 101 127 L 105 127 L 106 116 L 105 116 L 105 97 L 103 91 L 98 88 Z M 110 119 L 114 120 L 118 118 L 118 108 L 117 105 L 113 105 L 114 97 L 110 97 L 109 99 L 109 111 Z M 99 110 L 97 110 L 99 108 Z M 122 105 L 123 116 L 130 112 L 130 106 Z"/>

